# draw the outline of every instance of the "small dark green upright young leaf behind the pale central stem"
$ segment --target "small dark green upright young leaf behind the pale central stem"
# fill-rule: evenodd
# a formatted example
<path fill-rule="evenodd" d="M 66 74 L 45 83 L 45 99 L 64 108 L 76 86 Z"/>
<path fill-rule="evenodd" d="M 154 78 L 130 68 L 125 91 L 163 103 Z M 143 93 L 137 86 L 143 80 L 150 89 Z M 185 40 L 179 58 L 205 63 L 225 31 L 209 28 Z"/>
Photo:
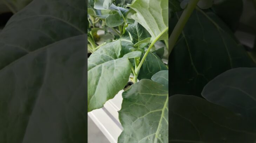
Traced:
<path fill-rule="evenodd" d="M 151 37 L 150 34 L 138 22 L 135 21 L 133 24 L 129 24 L 126 30 L 129 32 L 129 35 L 133 44 L 141 42 L 142 40 L 145 40 L 145 39 L 149 39 L 147 42 L 150 43 L 150 37 Z"/>

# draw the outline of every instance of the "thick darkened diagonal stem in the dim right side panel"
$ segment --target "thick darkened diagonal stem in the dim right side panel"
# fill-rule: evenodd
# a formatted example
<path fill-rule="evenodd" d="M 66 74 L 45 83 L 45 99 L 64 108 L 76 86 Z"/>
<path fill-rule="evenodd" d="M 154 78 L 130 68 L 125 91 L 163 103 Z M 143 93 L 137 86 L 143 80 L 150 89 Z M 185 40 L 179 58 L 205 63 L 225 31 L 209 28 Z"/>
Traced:
<path fill-rule="evenodd" d="M 190 0 L 188 2 L 187 7 L 183 10 L 183 13 L 178 20 L 177 24 L 175 25 L 175 28 L 173 29 L 173 32 L 171 33 L 171 36 L 169 37 L 169 44 L 170 44 L 170 50 L 169 50 L 169 55 L 171 51 L 173 50 L 178 37 L 180 36 L 184 26 L 186 25 L 190 15 L 193 13 L 193 10 L 196 8 L 197 2 L 199 0 Z"/>

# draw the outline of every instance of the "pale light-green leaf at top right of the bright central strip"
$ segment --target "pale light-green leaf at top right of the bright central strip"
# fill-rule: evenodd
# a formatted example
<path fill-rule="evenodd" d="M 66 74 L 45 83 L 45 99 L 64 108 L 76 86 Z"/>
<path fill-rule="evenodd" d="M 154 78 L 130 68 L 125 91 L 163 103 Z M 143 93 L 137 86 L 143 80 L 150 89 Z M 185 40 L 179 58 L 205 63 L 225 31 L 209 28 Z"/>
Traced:
<path fill-rule="evenodd" d="M 168 27 L 168 0 L 136 0 L 129 7 L 136 11 L 131 17 L 147 29 L 152 39 Z M 162 39 L 168 39 L 168 32 Z"/>

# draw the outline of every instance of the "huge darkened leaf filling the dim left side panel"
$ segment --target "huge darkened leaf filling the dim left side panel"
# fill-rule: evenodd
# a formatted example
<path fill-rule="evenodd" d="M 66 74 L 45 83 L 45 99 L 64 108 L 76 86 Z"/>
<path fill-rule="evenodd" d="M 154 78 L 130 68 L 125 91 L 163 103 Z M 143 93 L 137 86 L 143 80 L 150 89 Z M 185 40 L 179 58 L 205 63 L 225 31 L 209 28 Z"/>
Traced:
<path fill-rule="evenodd" d="M 1 31 L 1 143 L 86 142 L 85 5 L 34 0 Z"/>

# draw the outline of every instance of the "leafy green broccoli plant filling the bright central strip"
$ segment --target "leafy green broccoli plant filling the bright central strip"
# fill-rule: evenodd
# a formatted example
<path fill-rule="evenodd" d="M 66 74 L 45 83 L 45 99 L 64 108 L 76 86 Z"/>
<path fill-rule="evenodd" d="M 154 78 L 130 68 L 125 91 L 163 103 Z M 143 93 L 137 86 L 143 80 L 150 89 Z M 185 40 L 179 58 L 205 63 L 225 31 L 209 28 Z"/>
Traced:
<path fill-rule="evenodd" d="M 103 107 L 130 77 L 118 142 L 168 142 L 168 0 L 127 2 L 88 1 L 88 112 Z"/>

